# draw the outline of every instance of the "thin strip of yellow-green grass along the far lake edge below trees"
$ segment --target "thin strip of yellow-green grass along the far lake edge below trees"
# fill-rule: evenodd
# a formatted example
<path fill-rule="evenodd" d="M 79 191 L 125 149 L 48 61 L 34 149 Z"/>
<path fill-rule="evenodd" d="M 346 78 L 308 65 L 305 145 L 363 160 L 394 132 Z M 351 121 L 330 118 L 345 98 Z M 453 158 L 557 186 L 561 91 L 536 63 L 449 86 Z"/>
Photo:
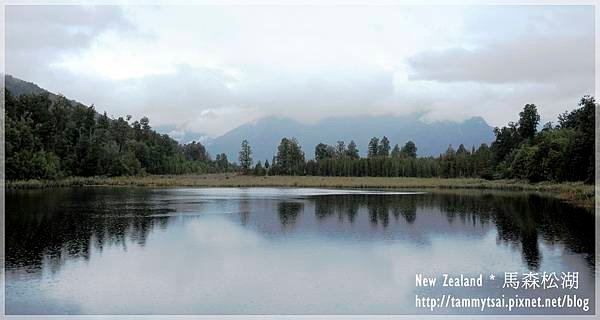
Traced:
<path fill-rule="evenodd" d="M 60 180 L 6 182 L 8 189 L 37 189 L 73 186 L 140 187 L 319 187 L 369 189 L 483 189 L 541 192 L 578 206 L 594 207 L 594 185 L 581 182 L 528 183 L 519 180 L 483 180 L 472 178 L 384 178 L 384 177 L 312 177 L 244 176 L 238 174 L 147 175 L 130 177 L 70 177 Z"/>

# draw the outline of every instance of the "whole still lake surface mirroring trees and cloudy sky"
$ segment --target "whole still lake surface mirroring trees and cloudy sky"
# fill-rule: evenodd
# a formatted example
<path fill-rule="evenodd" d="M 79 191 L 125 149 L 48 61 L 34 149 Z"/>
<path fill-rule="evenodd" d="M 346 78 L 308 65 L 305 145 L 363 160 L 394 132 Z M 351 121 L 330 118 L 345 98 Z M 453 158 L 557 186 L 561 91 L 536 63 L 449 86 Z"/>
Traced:
<path fill-rule="evenodd" d="M 576 294 L 589 311 L 512 314 L 593 314 L 594 223 L 586 210 L 523 193 L 8 192 L 6 312 L 464 314 L 481 311 L 418 308 L 415 296 Z M 529 271 L 577 272 L 578 288 L 503 288 L 505 272 Z M 481 274 L 483 286 L 442 287 L 444 273 Z M 436 286 L 416 286 L 417 274 Z"/>

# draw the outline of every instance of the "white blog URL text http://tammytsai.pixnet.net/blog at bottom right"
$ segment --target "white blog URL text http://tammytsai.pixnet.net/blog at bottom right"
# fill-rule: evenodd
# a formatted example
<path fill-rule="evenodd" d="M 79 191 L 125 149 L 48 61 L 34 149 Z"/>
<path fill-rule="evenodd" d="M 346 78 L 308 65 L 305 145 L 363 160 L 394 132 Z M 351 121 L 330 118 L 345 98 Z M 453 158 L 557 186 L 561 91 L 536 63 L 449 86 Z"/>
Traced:
<path fill-rule="evenodd" d="M 519 297 L 519 295 L 506 297 L 481 297 L 466 298 L 455 297 L 452 294 L 443 294 L 437 297 L 415 295 L 415 307 L 433 311 L 442 308 L 478 308 L 482 312 L 486 309 L 507 309 L 513 311 L 522 308 L 573 308 L 584 312 L 590 310 L 590 298 L 579 297 L 576 294 L 565 294 L 563 296 L 542 297 Z"/>

